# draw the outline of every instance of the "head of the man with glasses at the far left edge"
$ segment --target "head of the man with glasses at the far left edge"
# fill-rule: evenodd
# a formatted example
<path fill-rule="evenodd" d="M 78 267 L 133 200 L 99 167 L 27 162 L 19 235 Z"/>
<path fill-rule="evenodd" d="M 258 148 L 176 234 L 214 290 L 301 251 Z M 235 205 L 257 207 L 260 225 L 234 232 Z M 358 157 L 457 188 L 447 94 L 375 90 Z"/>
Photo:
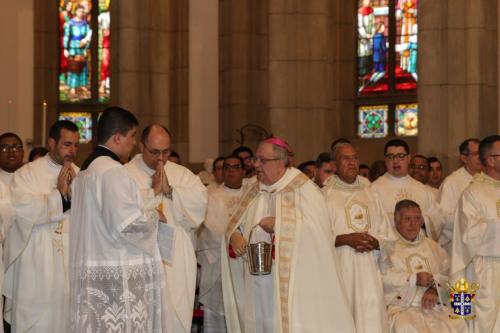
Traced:
<path fill-rule="evenodd" d="M 10 185 L 14 172 L 23 165 L 24 148 L 21 138 L 11 132 L 0 135 L 0 181 Z"/>

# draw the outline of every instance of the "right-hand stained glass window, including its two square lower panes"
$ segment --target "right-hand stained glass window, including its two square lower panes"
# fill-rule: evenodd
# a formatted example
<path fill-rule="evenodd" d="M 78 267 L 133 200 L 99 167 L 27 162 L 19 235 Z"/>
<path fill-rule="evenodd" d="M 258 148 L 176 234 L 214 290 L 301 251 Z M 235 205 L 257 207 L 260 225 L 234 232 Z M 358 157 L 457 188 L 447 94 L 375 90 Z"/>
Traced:
<path fill-rule="evenodd" d="M 418 0 L 358 0 L 358 135 L 418 134 Z"/>

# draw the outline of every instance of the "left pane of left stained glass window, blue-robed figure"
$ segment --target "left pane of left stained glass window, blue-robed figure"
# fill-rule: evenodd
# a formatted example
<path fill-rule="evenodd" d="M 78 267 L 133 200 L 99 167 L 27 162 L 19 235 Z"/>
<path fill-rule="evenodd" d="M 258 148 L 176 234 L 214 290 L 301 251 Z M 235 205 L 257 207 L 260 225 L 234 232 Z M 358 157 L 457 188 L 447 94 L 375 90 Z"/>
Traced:
<path fill-rule="evenodd" d="M 89 0 L 61 0 L 59 4 L 61 102 L 79 102 L 91 98 L 91 10 L 92 3 Z"/>

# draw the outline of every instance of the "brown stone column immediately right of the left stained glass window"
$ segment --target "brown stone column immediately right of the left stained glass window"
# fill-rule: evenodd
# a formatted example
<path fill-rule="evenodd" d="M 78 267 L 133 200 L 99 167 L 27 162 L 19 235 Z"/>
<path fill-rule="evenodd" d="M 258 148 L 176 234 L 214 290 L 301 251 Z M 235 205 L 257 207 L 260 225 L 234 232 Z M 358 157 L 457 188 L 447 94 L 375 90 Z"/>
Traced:
<path fill-rule="evenodd" d="M 169 2 L 120 0 L 117 103 L 136 113 L 141 125 L 169 125 Z M 142 127 L 142 126 L 141 126 Z"/>

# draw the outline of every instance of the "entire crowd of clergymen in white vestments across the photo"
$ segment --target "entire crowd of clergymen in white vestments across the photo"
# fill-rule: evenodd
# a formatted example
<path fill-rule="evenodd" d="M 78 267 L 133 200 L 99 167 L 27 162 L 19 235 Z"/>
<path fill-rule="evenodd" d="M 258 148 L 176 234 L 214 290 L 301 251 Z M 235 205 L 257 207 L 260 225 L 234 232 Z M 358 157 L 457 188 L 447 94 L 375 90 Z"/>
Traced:
<path fill-rule="evenodd" d="M 402 139 L 368 166 L 345 139 L 298 164 L 277 137 L 194 174 L 141 126 L 106 109 L 81 166 L 70 121 L 26 163 L 0 135 L 1 332 L 189 333 L 195 299 L 207 333 L 500 332 L 499 135 L 446 177 Z"/>

